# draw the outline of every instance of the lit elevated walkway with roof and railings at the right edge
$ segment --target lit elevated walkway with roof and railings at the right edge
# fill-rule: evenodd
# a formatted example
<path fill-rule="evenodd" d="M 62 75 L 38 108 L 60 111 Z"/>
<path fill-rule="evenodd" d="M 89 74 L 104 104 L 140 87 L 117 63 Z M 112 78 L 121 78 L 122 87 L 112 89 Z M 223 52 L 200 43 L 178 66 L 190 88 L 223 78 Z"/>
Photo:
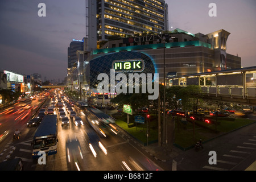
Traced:
<path fill-rule="evenodd" d="M 199 85 L 211 100 L 256 106 L 256 67 L 168 78 L 170 86 Z"/>

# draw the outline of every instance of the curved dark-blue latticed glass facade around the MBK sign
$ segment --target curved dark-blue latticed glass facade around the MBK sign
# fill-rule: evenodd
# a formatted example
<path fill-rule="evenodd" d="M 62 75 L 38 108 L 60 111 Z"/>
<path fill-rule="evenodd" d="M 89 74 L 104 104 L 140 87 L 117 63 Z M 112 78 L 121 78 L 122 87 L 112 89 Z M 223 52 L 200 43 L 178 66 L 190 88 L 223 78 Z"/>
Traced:
<path fill-rule="evenodd" d="M 141 52 L 128 51 L 109 53 L 108 55 L 100 56 L 90 60 L 89 65 L 86 65 L 85 68 L 85 79 L 87 83 L 90 85 L 91 88 L 97 89 L 98 83 L 101 82 L 101 80 L 97 80 L 98 75 L 100 75 L 100 73 L 106 73 L 110 78 L 110 69 L 114 69 L 113 63 L 119 63 L 122 61 L 126 61 L 126 63 L 129 63 L 129 68 L 132 68 L 133 65 L 134 67 L 136 67 L 136 65 L 141 66 L 142 63 L 139 64 L 139 61 L 143 62 L 143 70 L 139 70 L 139 72 L 136 72 L 134 71 L 134 69 L 127 69 L 122 73 L 125 73 L 126 75 L 128 73 L 152 73 L 152 77 L 154 77 L 155 65 L 151 58 Z M 115 74 L 118 73 L 120 72 L 115 72 Z"/>

